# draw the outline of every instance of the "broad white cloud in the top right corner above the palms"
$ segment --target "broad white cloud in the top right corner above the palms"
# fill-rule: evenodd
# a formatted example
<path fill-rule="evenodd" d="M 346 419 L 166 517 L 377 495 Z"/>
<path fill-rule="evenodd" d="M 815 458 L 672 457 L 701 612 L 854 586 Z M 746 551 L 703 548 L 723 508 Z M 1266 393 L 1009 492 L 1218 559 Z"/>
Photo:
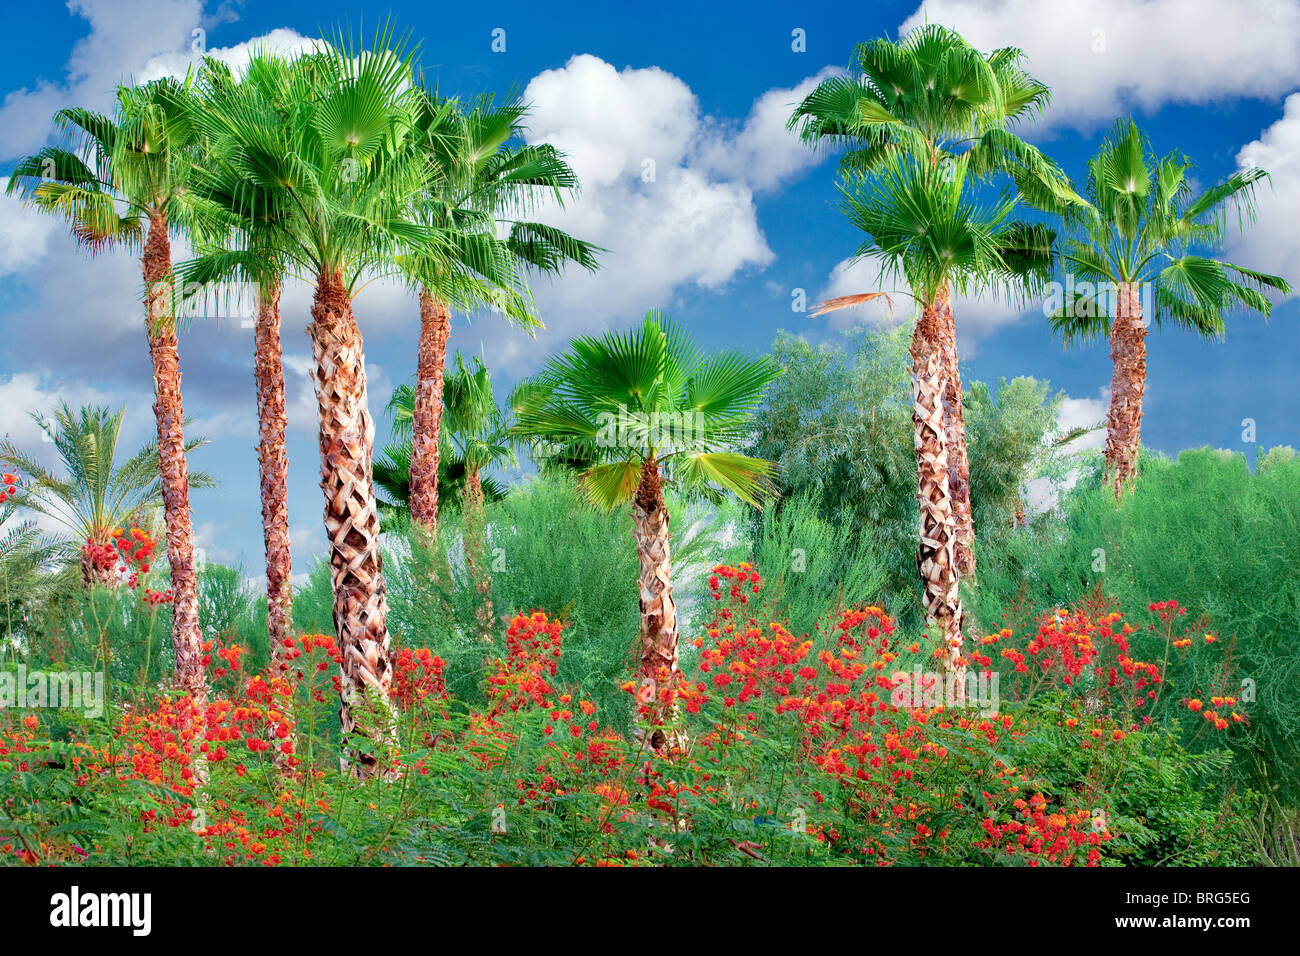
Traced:
<path fill-rule="evenodd" d="M 983 51 L 1020 47 L 1052 87 L 1043 122 L 1082 130 L 1164 103 L 1278 96 L 1300 81 L 1296 0 L 926 0 L 900 33 L 927 21 Z"/>

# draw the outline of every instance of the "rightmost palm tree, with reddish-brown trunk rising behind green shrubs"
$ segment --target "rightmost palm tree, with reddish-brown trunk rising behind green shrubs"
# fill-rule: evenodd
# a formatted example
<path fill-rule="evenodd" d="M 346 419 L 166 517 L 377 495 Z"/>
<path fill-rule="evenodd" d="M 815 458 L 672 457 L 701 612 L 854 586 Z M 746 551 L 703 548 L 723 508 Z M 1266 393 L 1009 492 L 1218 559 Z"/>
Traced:
<path fill-rule="evenodd" d="M 1091 215 L 1062 248 L 1071 287 L 1052 311 L 1053 328 L 1067 345 L 1110 339 L 1105 457 L 1117 498 L 1138 472 L 1148 317 L 1156 328 L 1170 321 L 1221 339 L 1225 312 L 1244 307 L 1268 316 L 1264 290 L 1291 291 L 1280 276 L 1204 254 L 1219 245 L 1228 204 L 1253 217 L 1254 183 L 1268 173 L 1244 169 L 1195 195 L 1191 168 L 1179 152 L 1157 157 L 1138 125 L 1121 120 L 1088 161 Z"/>

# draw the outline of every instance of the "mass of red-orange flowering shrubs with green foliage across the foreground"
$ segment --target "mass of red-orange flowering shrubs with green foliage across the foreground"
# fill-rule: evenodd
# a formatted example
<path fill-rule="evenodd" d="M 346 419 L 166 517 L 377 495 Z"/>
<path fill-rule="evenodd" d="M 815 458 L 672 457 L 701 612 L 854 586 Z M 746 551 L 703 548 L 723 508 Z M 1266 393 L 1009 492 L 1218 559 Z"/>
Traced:
<path fill-rule="evenodd" d="M 1187 754 L 1153 717 L 1169 697 L 1205 731 L 1249 719 L 1226 691 L 1230 654 L 1174 602 L 1152 605 L 1147 628 L 1097 596 L 970 639 L 965 663 L 1001 679 L 1000 700 L 946 706 L 900 693 L 910 674 L 944 675 L 928 670 L 932 641 L 879 606 L 794 635 L 755 568 L 716 567 L 710 592 L 693 661 L 660 698 L 625 684 L 642 719 L 670 714 L 660 750 L 610 731 L 590 695 L 559 682 L 566 624 L 540 610 L 510 620 L 478 706 L 447 696 L 432 649 L 394 652 L 399 783 L 338 774 L 333 637 L 287 639 L 261 674 L 213 640 L 202 710 L 138 695 L 57 735 L 49 718 L 0 711 L 13 784 L 0 852 L 226 865 L 1244 858 L 1228 838 L 1249 795 L 1234 816 L 1204 790 L 1226 757 Z M 1221 654 L 1222 680 L 1174 700 L 1166 657 L 1134 650 L 1139 632 L 1170 656 Z"/>

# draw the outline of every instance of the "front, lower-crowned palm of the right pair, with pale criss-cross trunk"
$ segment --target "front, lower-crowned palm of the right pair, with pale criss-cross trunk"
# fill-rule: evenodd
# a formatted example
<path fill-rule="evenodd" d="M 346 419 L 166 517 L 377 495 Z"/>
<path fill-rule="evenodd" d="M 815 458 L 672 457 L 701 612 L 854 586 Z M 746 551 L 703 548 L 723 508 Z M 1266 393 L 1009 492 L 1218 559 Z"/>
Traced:
<path fill-rule="evenodd" d="M 1032 293 L 1050 273 L 1052 242 L 1043 226 L 1011 219 L 1019 206 L 1014 195 L 989 208 L 978 206 L 967 190 L 970 163 L 957 156 L 945 170 L 900 156 L 870 181 L 841 189 L 844 212 L 868 237 L 855 258 L 875 259 L 884 274 L 905 280 L 920 307 L 910 350 L 920 503 L 916 564 L 926 618 L 940 628 L 946 666 L 958 676 L 965 672 L 963 611 L 950 476 L 954 449 L 944 416 L 950 290 Z"/>

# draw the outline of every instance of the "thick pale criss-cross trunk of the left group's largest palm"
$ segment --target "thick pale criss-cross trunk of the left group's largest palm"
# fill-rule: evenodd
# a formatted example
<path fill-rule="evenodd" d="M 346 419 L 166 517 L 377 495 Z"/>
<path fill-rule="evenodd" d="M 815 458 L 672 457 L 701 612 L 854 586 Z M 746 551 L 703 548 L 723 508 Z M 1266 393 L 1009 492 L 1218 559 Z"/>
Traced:
<path fill-rule="evenodd" d="M 321 490 L 342 654 L 341 762 L 344 773 L 361 779 L 390 777 L 396 726 L 389 698 L 393 669 L 372 466 L 374 420 L 367 403 L 361 330 L 342 273 L 317 278 L 307 330 L 316 359 Z"/>

